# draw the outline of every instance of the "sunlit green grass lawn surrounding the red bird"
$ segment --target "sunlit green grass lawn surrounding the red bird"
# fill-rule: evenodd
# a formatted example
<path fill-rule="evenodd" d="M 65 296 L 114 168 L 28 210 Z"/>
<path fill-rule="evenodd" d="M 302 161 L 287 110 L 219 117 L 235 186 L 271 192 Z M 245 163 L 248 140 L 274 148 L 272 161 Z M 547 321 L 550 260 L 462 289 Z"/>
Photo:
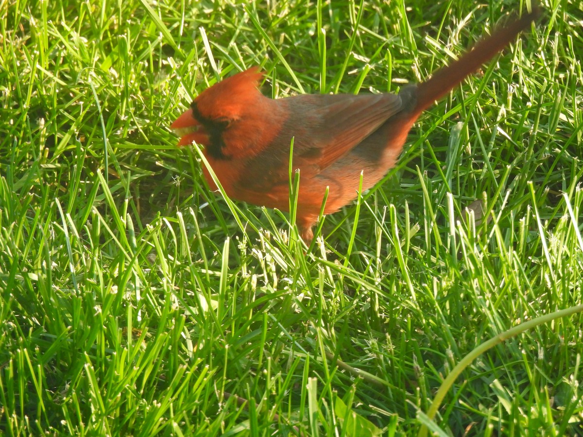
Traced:
<path fill-rule="evenodd" d="M 544 2 L 305 255 L 168 129 L 252 65 L 273 97 L 396 91 L 525 8 L 0 2 L 0 432 L 581 434 L 579 313 L 483 351 L 427 415 L 476 347 L 583 303 L 579 2 Z"/>

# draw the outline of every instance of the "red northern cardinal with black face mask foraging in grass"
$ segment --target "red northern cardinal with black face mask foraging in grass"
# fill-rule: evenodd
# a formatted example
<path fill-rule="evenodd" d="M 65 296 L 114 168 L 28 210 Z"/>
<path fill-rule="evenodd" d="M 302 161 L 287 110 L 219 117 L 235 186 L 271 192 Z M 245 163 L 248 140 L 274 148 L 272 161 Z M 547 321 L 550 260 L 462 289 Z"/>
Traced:
<path fill-rule="evenodd" d="M 310 244 L 324 213 L 333 213 L 376 184 L 395 165 L 409 130 L 434 101 L 503 50 L 538 9 L 494 31 L 427 82 L 399 94 L 301 94 L 273 100 L 258 90 L 263 73 L 250 68 L 202 91 L 170 126 L 196 142 L 231 198 L 289 210 L 289 152 L 300 170 L 297 225 Z M 206 167 L 211 189 L 217 187 Z"/>

